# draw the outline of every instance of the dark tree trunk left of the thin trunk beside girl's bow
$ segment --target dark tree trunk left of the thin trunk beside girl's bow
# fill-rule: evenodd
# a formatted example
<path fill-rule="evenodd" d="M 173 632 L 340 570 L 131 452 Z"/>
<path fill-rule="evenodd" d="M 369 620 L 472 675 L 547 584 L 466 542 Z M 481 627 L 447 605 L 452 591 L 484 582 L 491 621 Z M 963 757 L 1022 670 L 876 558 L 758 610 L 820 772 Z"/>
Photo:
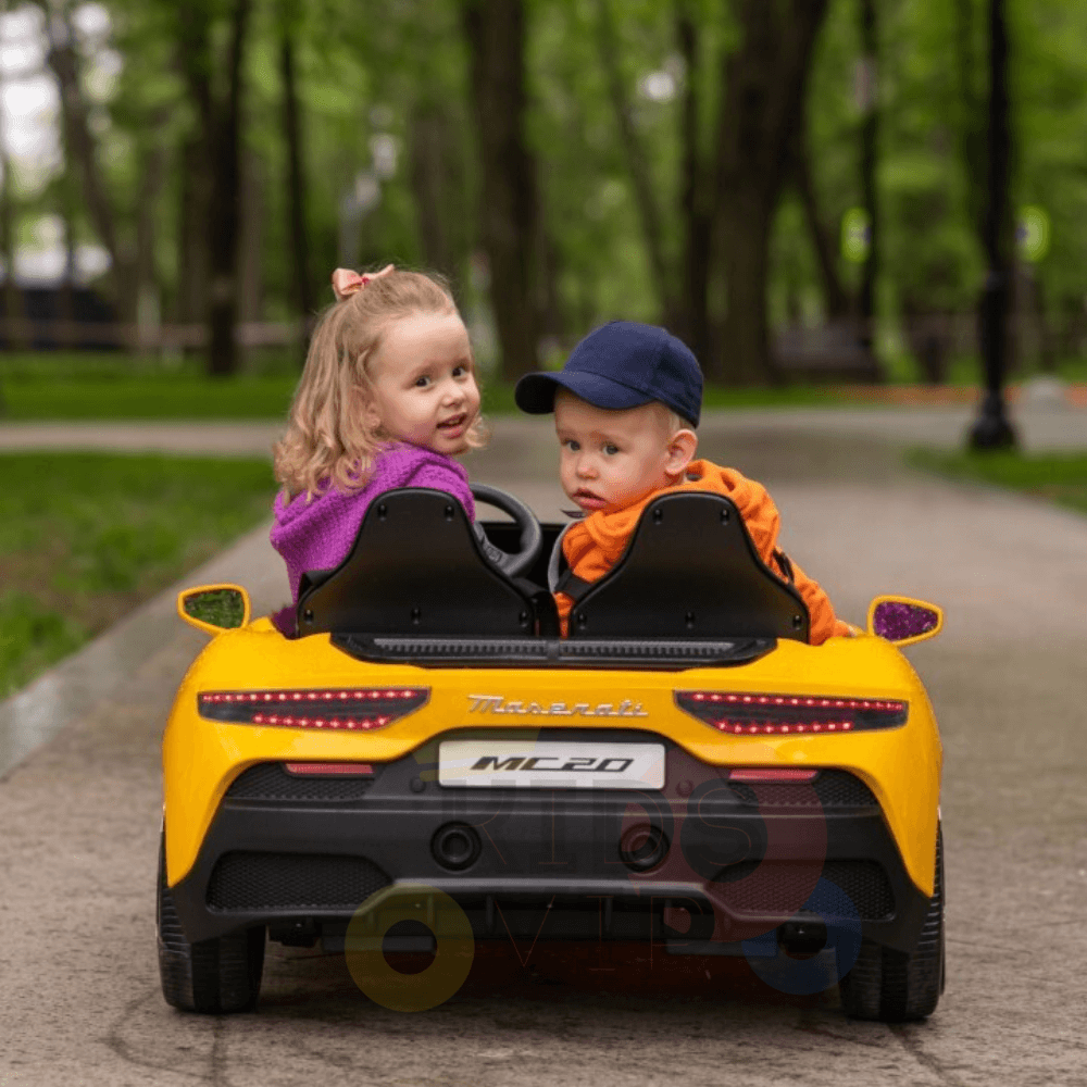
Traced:
<path fill-rule="evenodd" d="M 213 196 L 209 216 L 211 290 L 208 304 L 208 372 L 238 368 L 238 245 L 241 235 L 242 58 L 252 0 L 234 0 L 227 51 L 226 101 L 214 111 L 212 128 Z"/>

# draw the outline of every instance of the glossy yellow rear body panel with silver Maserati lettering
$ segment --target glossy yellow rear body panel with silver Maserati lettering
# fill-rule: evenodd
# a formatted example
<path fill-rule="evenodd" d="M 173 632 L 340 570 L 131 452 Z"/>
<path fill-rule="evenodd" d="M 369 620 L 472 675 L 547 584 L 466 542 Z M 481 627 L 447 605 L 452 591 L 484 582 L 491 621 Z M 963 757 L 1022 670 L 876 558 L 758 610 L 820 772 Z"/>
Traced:
<path fill-rule="evenodd" d="M 429 698 L 367 733 L 228 723 L 198 712 L 198 696 L 208 691 L 370 686 L 425 687 Z M 896 699 L 909 703 L 909 716 L 897 727 L 848 735 L 732 736 L 682 710 L 676 691 Z M 711 767 L 849 771 L 877 798 L 912 884 L 933 894 L 942 751 L 920 679 L 882 638 L 859 634 L 819 647 L 782 640 L 746 664 L 679 671 L 424 669 L 355 660 L 328 635 L 288 640 L 267 619 L 214 637 L 178 690 L 163 742 L 167 883 L 191 872 L 230 783 L 257 763 L 387 763 L 457 729 L 511 726 L 639 729 Z"/>

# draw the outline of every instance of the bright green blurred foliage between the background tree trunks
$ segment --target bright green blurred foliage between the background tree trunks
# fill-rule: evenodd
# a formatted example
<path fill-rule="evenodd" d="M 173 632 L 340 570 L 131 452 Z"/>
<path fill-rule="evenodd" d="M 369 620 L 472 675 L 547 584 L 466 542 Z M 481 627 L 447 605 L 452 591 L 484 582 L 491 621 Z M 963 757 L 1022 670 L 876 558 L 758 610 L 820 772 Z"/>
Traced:
<path fill-rule="evenodd" d="M 247 50 L 245 139 L 260 177 L 263 214 L 262 315 L 286 320 L 293 257 L 287 229 L 288 185 L 283 133 L 279 49 L 295 45 L 300 95 L 309 275 L 321 304 L 330 301 L 328 273 L 343 261 L 424 265 L 442 253 L 470 323 L 488 322 L 478 249 L 479 177 L 471 98 L 466 0 L 434 3 L 374 0 L 365 11 L 343 0 L 275 0 L 254 4 Z M 682 108 L 689 84 L 699 92 L 699 138 L 712 170 L 724 62 L 737 45 L 729 5 L 709 0 L 651 4 L 648 0 L 526 0 L 530 77 L 529 138 L 539 163 L 549 258 L 541 275 L 555 286 L 559 339 L 573 341 L 600 322 L 622 316 L 654 321 L 664 299 L 651 274 L 630 168 L 609 98 L 600 50 L 601 13 L 615 24 L 620 82 L 634 130 L 645 148 L 662 225 L 663 249 L 678 268 Z M 112 90 L 95 104 L 95 130 L 120 224 L 122 242 L 136 243 L 148 167 L 163 157 L 164 183 L 153 200 L 153 264 L 163 314 L 179 310 L 184 262 L 180 208 L 186 184 L 183 149 L 199 135 L 179 49 L 183 32 L 210 28 L 207 75 L 216 93 L 229 4 L 199 0 L 105 0 L 109 46 L 123 60 Z M 880 111 L 878 186 L 884 342 L 903 315 L 969 313 L 984 277 L 978 224 L 984 212 L 986 26 L 985 0 L 879 0 Z M 1038 204 L 1052 222 L 1052 246 L 1035 270 L 1041 304 L 1078 352 L 1087 337 L 1080 254 L 1087 247 L 1087 7 L 1067 0 L 1011 0 L 1011 86 L 1015 161 L 1013 204 Z M 676 37 L 680 10 L 692 13 L 700 64 L 684 71 Z M 90 47 L 87 46 L 89 55 Z M 857 0 L 829 4 L 808 80 L 810 152 L 827 233 L 837 237 L 846 211 L 861 201 L 861 112 L 854 98 L 860 52 Z M 666 73 L 673 93 L 646 92 L 647 77 Z M 95 80 L 88 74 L 88 86 Z M 445 249 L 421 209 L 416 170 L 418 118 L 437 117 L 442 133 L 438 216 Z M 375 139 L 396 151 L 378 178 L 380 200 L 357 230 L 341 230 L 340 208 L 360 178 L 375 174 Z M 391 145 L 388 142 L 391 140 Z M 40 191 L 20 195 L 26 215 L 79 203 L 74 172 Z M 93 232 L 77 209 L 79 240 Z M 855 289 L 859 268 L 841 262 Z M 678 271 L 676 272 L 677 283 Z M 808 226 L 786 190 L 777 215 L 769 285 L 775 323 L 820 320 L 823 288 Z M 721 285 L 711 310 L 720 315 Z M 480 338 L 480 342 L 484 339 Z M 908 351 L 887 353 L 892 372 L 912 376 Z M 1028 360 L 1033 364 L 1033 360 Z M 89 396 L 89 393 L 87 393 Z M 58 405 L 66 414 L 68 409 Z M 74 409 L 72 409 L 74 410 Z"/>

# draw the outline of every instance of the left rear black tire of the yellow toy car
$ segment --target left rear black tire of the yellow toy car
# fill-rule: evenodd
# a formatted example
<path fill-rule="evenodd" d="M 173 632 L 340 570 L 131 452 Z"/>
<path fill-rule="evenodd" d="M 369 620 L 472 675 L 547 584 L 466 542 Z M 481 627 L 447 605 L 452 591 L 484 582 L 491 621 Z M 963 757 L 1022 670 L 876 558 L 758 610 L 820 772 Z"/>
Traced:
<path fill-rule="evenodd" d="M 209 1015 L 245 1012 L 257 1004 L 264 972 L 264 926 L 190 944 L 166 886 L 164 846 L 159 849 L 158 922 L 159 974 L 167 1004 Z"/>

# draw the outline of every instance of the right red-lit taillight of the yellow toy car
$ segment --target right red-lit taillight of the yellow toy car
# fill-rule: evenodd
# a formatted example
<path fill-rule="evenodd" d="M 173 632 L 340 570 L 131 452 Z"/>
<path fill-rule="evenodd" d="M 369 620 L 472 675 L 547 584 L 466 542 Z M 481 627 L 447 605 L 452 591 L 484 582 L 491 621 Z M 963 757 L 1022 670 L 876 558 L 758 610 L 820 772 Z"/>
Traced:
<path fill-rule="evenodd" d="M 677 690 L 676 705 L 733 736 L 794 736 L 894 728 L 905 723 L 909 703 L 884 698 L 744 695 Z"/>

